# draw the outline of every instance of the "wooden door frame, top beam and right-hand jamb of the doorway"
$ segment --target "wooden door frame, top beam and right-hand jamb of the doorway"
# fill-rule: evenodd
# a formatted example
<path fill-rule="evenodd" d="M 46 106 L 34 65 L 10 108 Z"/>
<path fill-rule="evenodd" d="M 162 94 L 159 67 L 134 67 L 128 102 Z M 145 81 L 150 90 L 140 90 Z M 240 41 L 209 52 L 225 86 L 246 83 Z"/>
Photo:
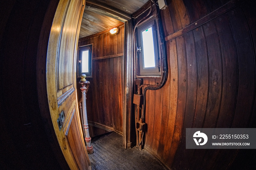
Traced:
<path fill-rule="evenodd" d="M 94 3 L 86 1 L 86 4 L 93 5 L 100 15 L 106 15 L 121 22 L 124 22 L 124 105 L 123 105 L 123 146 L 131 148 L 132 140 L 135 136 L 132 132 L 134 121 L 132 120 L 132 92 L 133 92 L 133 25 L 132 17 L 126 13 L 114 11 L 111 7 L 100 2 Z M 86 9 L 85 9 L 86 10 Z M 132 137 L 132 134 L 133 137 Z M 136 136 L 133 142 L 136 142 Z"/>

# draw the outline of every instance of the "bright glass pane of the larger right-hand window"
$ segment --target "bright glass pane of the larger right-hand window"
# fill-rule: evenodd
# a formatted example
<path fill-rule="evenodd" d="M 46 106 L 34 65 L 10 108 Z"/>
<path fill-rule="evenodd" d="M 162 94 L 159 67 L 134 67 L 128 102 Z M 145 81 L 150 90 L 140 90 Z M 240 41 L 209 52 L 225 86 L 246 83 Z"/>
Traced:
<path fill-rule="evenodd" d="M 155 67 L 155 53 L 152 27 L 142 31 L 144 68 Z"/>

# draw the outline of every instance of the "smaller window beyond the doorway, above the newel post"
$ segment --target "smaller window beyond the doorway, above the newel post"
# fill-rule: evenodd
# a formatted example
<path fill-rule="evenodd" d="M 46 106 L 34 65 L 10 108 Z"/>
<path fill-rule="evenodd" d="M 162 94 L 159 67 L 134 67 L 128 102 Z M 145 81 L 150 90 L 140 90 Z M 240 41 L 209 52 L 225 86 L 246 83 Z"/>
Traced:
<path fill-rule="evenodd" d="M 92 46 L 87 45 L 79 47 L 79 56 L 78 56 L 78 73 L 86 74 L 87 77 L 91 77 L 91 60 L 92 60 Z"/>

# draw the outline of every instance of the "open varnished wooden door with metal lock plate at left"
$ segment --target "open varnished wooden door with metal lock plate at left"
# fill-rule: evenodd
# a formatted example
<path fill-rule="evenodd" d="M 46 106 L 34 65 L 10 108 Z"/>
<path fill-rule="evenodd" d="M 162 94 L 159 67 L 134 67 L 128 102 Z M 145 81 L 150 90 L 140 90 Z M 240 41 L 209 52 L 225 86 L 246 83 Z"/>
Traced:
<path fill-rule="evenodd" d="M 71 169 L 91 169 L 76 96 L 76 55 L 84 0 L 60 0 L 50 31 L 46 88 L 61 151 Z"/>

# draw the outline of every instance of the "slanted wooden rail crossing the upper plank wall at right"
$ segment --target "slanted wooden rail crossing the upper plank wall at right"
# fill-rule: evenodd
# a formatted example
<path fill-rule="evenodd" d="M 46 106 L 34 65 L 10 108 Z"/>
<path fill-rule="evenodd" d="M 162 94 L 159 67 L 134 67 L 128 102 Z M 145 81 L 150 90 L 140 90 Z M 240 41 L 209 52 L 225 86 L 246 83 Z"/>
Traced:
<path fill-rule="evenodd" d="M 223 5 L 222 7 L 216 9 L 215 11 L 212 11 L 211 13 L 209 13 L 208 15 L 204 16 L 203 18 L 197 20 L 196 22 L 190 24 L 189 26 L 174 32 L 173 34 L 170 34 L 168 36 L 165 37 L 165 41 L 169 41 L 173 38 L 176 38 L 180 35 L 183 35 L 199 26 L 202 26 L 204 23 L 209 22 L 210 20 L 217 18 L 218 16 L 222 15 L 223 13 L 226 13 L 227 11 L 230 11 L 231 9 L 237 7 L 238 5 L 241 5 L 242 3 L 244 3 L 244 1 L 240 1 L 240 0 L 232 0 L 228 3 L 226 3 L 225 5 Z"/>

